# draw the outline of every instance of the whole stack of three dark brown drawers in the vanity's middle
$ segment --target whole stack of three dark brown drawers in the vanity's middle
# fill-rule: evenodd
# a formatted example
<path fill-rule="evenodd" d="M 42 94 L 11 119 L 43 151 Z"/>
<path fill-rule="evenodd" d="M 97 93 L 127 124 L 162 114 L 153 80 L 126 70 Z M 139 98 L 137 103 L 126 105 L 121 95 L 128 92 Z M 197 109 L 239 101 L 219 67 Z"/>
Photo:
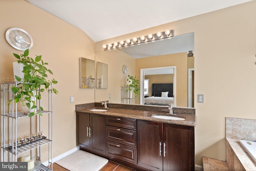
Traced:
<path fill-rule="evenodd" d="M 106 116 L 106 154 L 137 163 L 136 119 Z"/>

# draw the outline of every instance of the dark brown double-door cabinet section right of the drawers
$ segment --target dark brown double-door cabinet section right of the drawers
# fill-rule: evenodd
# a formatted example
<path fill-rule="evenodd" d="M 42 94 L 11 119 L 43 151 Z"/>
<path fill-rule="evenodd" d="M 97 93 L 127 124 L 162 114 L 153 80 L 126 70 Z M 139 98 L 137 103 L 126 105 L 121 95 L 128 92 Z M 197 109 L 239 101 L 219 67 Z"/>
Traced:
<path fill-rule="evenodd" d="M 194 127 L 137 121 L 138 165 L 153 171 L 194 171 Z"/>

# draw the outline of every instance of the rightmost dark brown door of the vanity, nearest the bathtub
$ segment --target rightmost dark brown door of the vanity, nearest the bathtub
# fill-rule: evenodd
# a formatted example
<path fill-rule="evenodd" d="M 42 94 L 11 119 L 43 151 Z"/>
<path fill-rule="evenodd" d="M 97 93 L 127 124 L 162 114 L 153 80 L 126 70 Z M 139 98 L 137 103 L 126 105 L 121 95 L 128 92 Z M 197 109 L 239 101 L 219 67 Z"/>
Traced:
<path fill-rule="evenodd" d="M 163 124 L 164 170 L 194 171 L 194 127 Z"/>

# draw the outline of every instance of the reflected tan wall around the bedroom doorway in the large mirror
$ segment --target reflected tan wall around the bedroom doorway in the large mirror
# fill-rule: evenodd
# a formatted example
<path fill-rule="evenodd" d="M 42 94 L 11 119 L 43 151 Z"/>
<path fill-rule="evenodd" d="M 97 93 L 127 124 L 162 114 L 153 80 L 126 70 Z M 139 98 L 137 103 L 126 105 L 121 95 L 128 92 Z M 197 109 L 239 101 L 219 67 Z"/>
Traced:
<path fill-rule="evenodd" d="M 140 76 L 140 69 L 176 66 L 176 104 L 179 107 L 188 107 L 188 67 L 187 53 L 151 56 L 136 59 L 136 75 Z M 140 78 L 140 77 L 139 77 Z"/>

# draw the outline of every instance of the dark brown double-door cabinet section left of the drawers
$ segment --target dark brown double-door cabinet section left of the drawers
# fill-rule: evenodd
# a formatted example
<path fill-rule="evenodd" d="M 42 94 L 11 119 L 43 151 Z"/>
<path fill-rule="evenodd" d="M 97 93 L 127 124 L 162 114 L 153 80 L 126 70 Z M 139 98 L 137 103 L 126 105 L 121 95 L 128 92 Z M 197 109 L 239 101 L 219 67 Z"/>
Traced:
<path fill-rule="evenodd" d="M 105 153 L 105 116 L 76 112 L 77 144 L 88 150 Z"/>

